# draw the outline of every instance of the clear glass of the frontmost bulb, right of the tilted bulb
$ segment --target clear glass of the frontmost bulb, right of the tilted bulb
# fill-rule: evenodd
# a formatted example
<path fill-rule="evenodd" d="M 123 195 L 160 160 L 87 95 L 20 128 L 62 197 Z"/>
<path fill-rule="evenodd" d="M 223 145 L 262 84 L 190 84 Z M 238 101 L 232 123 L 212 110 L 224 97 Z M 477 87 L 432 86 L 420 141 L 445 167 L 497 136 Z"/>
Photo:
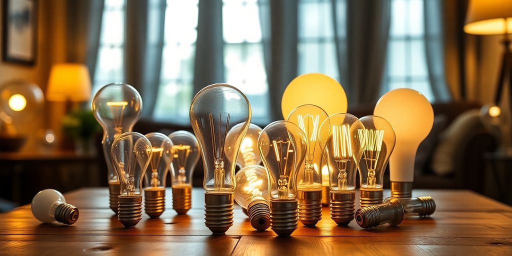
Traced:
<path fill-rule="evenodd" d="M 275 121 L 263 129 L 258 149 L 267 169 L 271 199 L 296 198 L 296 174 L 306 155 L 306 143 L 304 132 L 289 121 Z"/>

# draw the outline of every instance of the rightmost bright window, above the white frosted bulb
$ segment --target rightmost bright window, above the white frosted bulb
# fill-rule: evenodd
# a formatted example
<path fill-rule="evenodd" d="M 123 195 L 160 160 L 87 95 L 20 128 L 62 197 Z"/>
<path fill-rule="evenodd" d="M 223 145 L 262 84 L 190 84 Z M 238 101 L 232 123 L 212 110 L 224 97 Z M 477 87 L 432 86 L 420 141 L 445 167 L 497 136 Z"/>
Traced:
<path fill-rule="evenodd" d="M 387 91 L 411 88 L 434 100 L 425 57 L 422 0 L 392 0 Z"/>

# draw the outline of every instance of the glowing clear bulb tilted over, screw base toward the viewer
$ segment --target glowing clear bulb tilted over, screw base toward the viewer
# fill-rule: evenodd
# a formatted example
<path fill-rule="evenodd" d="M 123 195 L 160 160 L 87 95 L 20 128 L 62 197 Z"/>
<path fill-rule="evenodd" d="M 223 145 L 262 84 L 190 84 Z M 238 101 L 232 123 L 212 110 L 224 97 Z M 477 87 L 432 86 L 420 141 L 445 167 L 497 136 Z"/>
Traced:
<path fill-rule="evenodd" d="M 261 165 L 246 166 L 234 177 L 237 180 L 234 201 L 244 209 L 253 228 L 266 230 L 270 226 L 267 170 Z"/>

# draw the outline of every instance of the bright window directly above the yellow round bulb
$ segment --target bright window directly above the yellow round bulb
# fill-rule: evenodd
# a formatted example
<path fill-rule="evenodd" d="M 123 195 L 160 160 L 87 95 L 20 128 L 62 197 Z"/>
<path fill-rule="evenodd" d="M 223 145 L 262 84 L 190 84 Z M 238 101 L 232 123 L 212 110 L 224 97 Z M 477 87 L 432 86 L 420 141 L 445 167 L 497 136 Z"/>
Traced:
<path fill-rule="evenodd" d="M 344 15 L 345 2 L 338 2 L 337 12 Z M 331 1 L 300 0 L 298 17 L 298 74 L 322 73 L 339 81 Z"/>

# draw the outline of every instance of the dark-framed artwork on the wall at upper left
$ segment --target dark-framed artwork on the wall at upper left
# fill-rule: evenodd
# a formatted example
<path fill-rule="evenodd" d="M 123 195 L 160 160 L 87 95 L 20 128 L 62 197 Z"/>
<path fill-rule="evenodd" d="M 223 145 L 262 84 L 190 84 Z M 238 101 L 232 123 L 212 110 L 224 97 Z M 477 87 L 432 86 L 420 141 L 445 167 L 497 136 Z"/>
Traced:
<path fill-rule="evenodd" d="M 37 1 L 4 0 L 2 59 L 34 65 L 37 55 Z"/>

